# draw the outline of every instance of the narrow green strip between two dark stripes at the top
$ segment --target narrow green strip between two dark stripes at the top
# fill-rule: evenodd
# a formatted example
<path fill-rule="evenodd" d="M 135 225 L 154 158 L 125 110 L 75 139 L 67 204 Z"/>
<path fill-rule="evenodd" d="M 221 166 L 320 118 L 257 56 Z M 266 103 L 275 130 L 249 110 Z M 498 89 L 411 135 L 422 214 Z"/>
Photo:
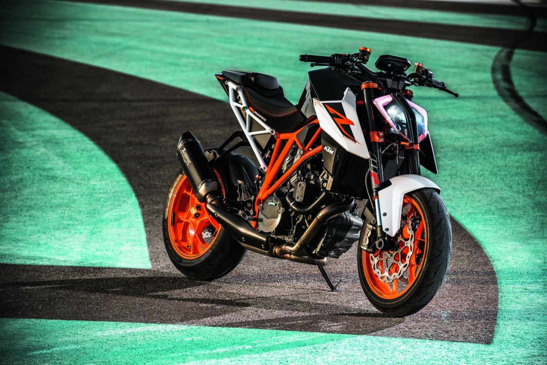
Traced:
<path fill-rule="evenodd" d="M 185 3 L 230 5 L 233 7 L 247 7 L 264 10 L 275 9 L 317 14 L 362 16 L 363 18 L 406 20 L 475 27 L 509 29 L 526 29 L 527 27 L 526 19 L 522 16 L 465 14 L 452 13 L 449 11 L 382 7 L 376 5 L 359 4 L 358 1 L 354 4 L 287 0 L 246 0 L 245 2 L 234 2 L 232 0 L 175 1 Z M 545 32 L 547 30 L 547 21 L 545 21 L 545 19 L 538 19 L 535 30 Z"/>

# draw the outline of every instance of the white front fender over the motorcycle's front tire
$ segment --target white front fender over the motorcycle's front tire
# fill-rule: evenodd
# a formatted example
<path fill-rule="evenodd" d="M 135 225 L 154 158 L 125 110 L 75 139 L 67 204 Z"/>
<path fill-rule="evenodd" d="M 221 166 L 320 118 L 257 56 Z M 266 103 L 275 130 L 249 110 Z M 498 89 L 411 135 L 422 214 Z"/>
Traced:
<path fill-rule="evenodd" d="M 401 213 L 403 212 L 403 197 L 406 193 L 423 188 L 441 189 L 430 179 L 420 175 L 399 175 L 389 179 L 391 185 L 380 190 L 380 215 L 382 217 L 382 229 L 390 236 L 399 231 L 401 225 Z"/>

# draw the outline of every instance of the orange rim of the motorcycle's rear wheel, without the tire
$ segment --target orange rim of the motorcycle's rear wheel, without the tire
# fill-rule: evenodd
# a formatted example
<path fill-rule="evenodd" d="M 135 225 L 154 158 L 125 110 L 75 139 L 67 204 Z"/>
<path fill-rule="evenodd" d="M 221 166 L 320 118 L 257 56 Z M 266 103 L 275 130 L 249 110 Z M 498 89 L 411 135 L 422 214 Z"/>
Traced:
<path fill-rule="evenodd" d="M 173 190 L 168 209 L 168 234 L 171 246 L 185 259 L 202 257 L 211 249 L 220 231 L 220 224 L 197 200 L 186 175 Z"/>

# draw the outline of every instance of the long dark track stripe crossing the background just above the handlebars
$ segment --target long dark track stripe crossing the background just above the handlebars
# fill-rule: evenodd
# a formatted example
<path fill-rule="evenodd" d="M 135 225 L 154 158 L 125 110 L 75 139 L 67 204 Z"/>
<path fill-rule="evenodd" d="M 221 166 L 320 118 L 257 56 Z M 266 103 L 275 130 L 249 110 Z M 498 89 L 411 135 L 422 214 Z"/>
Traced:
<path fill-rule="evenodd" d="M 255 9 L 231 7 L 228 5 L 210 5 L 184 3 L 168 0 L 65 0 L 102 5 L 120 5 L 144 9 L 180 11 L 204 15 L 219 15 L 232 18 L 277 21 L 294 24 L 315 25 L 330 28 L 341 28 L 357 31 L 381 32 L 387 34 L 404 34 L 405 36 L 452 40 L 457 42 L 510 47 L 515 39 L 520 39 L 525 31 L 485 28 L 459 25 L 446 25 L 402 21 L 393 19 L 362 18 L 315 13 L 299 13 L 274 9 Z M 547 51 L 547 33 L 534 32 L 519 45 L 528 50 Z M 457 60 L 455 60 L 457 61 Z"/>

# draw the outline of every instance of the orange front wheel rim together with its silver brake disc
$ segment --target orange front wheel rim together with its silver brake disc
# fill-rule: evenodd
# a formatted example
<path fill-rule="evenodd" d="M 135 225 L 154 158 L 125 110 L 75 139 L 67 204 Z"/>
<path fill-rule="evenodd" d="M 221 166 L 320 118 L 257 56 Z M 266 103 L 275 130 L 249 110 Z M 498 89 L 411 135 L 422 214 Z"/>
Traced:
<path fill-rule="evenodd" d="M 363 251 L 362 266 L 366 282 L 370 289 L 382 299 L 397 299 L 408 292 L 410 288 L 416 285 L 418 275 L 421 273 L 424 265 L 425 254 L 427 250 L 427 228 L 423 212 L 416 201 L 409 196 L 403 199 L 403 212 L 406 215 L 406 222 L 401 228 L 399 235 L 394 237 L 397 240 L 395 248 L 386 253 L 386 251 L 375 250 L 374 252 Z M 410 228 L 415 226 L 413 228 Z M 411 234 L 414 239 L 411 240 Z M 408 242 L 408 245 L 405 244 Z M 395 252 L 399 252 L 394 254 Z M 387 254 L 394 254 L 393 260 L 386 259 Z M 376 263 L 376 272 L 373 264 Z M 387 263 L 387 264 L 386 264 Z M 400 270 L 401 265 L 406 265 L 406 269 Z M 382 275 L 379 275 L 379 271 Z M 387 279 L 398 275 L 397 279 Z"/>

